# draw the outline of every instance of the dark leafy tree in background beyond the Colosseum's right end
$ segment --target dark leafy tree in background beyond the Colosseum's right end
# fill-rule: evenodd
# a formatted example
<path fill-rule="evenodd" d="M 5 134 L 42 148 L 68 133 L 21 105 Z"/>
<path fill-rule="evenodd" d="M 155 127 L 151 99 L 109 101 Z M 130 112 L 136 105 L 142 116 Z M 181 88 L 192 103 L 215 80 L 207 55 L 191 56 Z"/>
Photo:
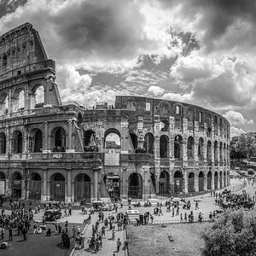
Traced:
<path fill-rule="evenodd" d="M 256 154 L 256 140 L 250 134 L 243 133 L 238 138 L 234 145 L 236 153 L 240 155 L 245 155 L 248 164 L 250 163 L 251 157 Z"/>

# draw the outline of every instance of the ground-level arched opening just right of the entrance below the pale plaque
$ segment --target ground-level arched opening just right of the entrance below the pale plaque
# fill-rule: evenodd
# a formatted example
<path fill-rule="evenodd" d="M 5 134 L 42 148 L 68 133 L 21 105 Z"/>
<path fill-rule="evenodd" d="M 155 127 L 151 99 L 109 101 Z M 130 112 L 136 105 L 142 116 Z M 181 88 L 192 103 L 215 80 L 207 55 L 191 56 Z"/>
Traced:
<path fill-rule="evenodd" d="M 134 172 L 128 179 L 128 197 L 143 198 L 143 177 Z"/>

